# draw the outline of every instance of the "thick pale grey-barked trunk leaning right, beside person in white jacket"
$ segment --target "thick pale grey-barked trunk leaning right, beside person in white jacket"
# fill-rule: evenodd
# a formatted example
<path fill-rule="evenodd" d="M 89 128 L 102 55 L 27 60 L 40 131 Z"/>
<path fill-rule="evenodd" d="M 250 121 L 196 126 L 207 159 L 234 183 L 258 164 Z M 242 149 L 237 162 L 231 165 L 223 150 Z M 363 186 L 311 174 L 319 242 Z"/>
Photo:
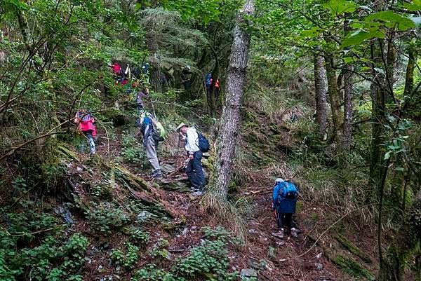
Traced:
<path fill-rule="evenodd" d="M 253 15 L 253 0 L 248 0 L 236 19 L 234 41 L 229 58 L 227 97 L 222 110 L 220 132 L 217 139 L 215 179 L 211 186 L 212 196 L 218 202 L 227 200 L 228 186 L 232 174 L 232 163 L 240 125 L 241 100 L 246 82 L 246 68 L 250 34 L 241 29 L 244 15 Z"/>

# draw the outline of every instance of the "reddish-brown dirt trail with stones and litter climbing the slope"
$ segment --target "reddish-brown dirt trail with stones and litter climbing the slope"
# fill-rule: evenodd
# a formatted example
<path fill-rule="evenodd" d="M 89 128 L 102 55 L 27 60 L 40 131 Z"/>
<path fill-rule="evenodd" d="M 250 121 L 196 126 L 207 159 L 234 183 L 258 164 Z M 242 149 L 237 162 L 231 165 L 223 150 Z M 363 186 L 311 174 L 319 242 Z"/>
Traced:
<path fill-rule="evenodd" d="M 102 138 L 98 144 L 98 155 L 107 160 L 111 160 L 121 153 L 121 130 L 116 128 L 117 140 Z M 181 153 L 182 155 L 182 153 Z M 177 157 L 159 156 L 161 165 L 170 165 L 175 169 L 174 163 L 179 163 Z M 133 174 L 144 177 L 150 184 L 154 185 L 154 179 L 148 178 L 145 174 L 148 170 L 141 170 L 137 165 L 123 165 L 131 170 Z M 168 173 L 167 173 L 168 174 Z M 187 177 L 182 172 L 178 172 L 175 177 L 165 182 L 177 184 L 179 181 L 186 181 Z M 269 181 L 268 181 L 269 182 Z M 155 185 L 156 186 L 156 185 Z M 174 215 L 171 227 L 168 225 L 149 226 L 150 240 L 152 245 L 159 238 L 165 238 L 169 242 L 168 250 L 172 256 L 185 256 L 189 249 L 199 245 L 202 233 L 202 226 L 215 227 L 218 221 L 212 214 L 207 214 L 201 206 L 201 198 L 194 198 L 189 192 L 171 191 L 164 189 L 165 184 L 161 184 L 156 189 L 156 193 L 161 201 Z M 232 247 L 229 258 L 232 261 L 232 270 L 241 271 L 243 268 L 255 268 L 259 271 L 259 280 L 286 280 L 286 281 L 322 281 L 322 280 L 351 280 L 335 268 L 323 254 L 316 249 L 312 249 L 308 254 L 300 256 L 313 243 L 309 242 L 307 233 L 312 229 L 307 229 L 300 224 L 301 219 L 312 206 L 304 205 L 302 211 L 297 214 L 295 221 L 300 228 L 298 239 L 290 239 L 288 235 L 284 240 L 274 238 L 271 233 L 275 231 L 276 221 L 271 210 L 269 186 L 248 186 L 243 189 L 244 196 L 251 205 L 252 216 L 246 218 L 247 221 L 247 241 L 244 247 Z M 250 192 L 253 191 L 253 192 Z M 308 210 L 307 210 L 308 209 Z M 296 256 L 300 256 L 294 259 Z M 138 263 L 138 268 L 147 265 L 152 259 L 142 256 Z M 165 265 L 163 265 L 165 266 Z M 168 264 L 169 266 L 169 264 Z"/>

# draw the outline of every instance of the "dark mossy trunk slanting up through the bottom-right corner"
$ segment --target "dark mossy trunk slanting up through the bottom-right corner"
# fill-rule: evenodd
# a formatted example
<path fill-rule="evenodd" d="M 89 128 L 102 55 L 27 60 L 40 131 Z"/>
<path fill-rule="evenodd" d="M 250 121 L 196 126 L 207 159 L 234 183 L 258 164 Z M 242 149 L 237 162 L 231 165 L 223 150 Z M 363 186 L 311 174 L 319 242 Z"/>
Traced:
<path fill-rule="evenodd" d="M 403 281 L 408 261 L 416 254 L 421 241 L 421 191 L 408 217 L 403 222 L 399 232 L 394 236 L 392 245 L 380 263 L 378 281 Z"/>

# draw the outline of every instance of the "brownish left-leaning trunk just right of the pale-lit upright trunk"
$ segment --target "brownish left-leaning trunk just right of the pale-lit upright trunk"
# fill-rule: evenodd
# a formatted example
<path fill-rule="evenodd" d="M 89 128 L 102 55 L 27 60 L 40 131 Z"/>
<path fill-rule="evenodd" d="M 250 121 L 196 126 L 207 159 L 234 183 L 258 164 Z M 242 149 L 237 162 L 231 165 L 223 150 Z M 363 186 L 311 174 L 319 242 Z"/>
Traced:
<path fill-rule="evenodd" d="M 333 142 L 335 139 L 340 144 L 340 103 L 339 103 L 339 90 L 338 78 L 335 71 L 335 60 L 329 53 L 325 53 L 326 74 L 328 76 L 328 95 L 330 100 L 330 111 L 332 111 L 333 121 Z"/>

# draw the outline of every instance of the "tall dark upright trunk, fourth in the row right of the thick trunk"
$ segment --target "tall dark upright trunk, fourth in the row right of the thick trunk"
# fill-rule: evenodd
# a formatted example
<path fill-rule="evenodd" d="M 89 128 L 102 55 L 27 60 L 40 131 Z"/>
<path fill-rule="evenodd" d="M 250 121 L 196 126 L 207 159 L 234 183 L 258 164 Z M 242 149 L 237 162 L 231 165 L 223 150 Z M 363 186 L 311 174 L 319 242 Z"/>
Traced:
<path fill-rule="evenodd" d="M 378 191 L 381 175 L 383 174 L 384 156 L 382 145 L 385 143 L 385 74 L 377 71 L 380 67 L 383 43 L 382 40 L 371 43 L 371 56 L 373 63 L 373 83 L 370 85 L 371 95 L 371 157 L 370 157 L 370 185 L 373 186 L 373 192 Z"/>

